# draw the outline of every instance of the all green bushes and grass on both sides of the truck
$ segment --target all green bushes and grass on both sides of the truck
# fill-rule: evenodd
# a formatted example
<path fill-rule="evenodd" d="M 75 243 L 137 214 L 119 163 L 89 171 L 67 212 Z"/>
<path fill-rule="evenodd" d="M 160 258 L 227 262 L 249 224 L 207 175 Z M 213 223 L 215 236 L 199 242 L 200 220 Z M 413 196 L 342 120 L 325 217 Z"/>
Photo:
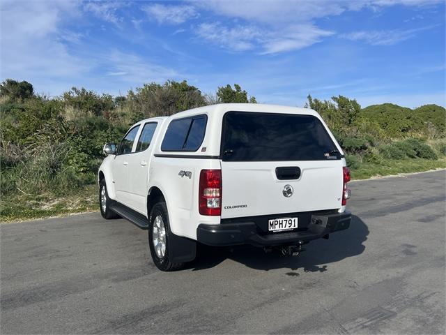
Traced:
<path fill-rule="evenodd" d="M 125 96 L 84 88 L 49 98 L 29 82 L 0 85 L 1 221 L 69 214 L 97 207 L 96 173 L 106 142 L 140 119 L 211 103 L 256 103 L 238 84 L 203 95 L 186 81 L 144 84 Z M 308 97 L 346 151 L 353 178 L 445 168 L 446 110 L 392 104 L 361 109 L 344 96 Z"/>

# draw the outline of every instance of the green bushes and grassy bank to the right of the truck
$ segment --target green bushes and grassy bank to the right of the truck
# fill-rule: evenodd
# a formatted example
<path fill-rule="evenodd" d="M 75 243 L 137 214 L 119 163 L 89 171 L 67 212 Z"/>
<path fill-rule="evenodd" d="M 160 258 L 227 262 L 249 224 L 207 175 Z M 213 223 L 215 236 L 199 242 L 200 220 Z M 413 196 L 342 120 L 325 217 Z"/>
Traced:
<path fill-rule="evenodd" d="M 319 112 L 339 144 L 353 179 L 446 168 L 446 110 L 424 105 L 411 110 L 383 103 L 361 109 L 355 101 L 334 96 L 307 107 Z"/>

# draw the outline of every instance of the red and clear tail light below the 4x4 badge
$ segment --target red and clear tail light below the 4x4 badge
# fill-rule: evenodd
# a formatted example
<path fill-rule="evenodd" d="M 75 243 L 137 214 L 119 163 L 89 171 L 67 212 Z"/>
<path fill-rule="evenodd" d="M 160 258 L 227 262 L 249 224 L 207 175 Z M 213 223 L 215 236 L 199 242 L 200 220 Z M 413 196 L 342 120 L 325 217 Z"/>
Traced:
<path fill-rule="evenodd" d="M 199 213 L 222 214 L 222 170 L 201 170 L 199 184 Z"/>

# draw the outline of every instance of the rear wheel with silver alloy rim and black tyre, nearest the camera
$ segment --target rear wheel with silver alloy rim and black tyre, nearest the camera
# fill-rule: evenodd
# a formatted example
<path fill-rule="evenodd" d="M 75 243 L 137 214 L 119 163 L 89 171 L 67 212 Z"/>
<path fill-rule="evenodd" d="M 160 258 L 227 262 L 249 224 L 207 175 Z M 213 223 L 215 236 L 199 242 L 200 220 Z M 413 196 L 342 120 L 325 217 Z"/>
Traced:
<path fill-rule="evenodd" d="M 148 220 L 148 246 L 153 262 L 161 271 L 175 271 L 185 264 L 174 263 L 169 259 L 171 234 L 166 202 L 158 202 L 153 206 Z"/>

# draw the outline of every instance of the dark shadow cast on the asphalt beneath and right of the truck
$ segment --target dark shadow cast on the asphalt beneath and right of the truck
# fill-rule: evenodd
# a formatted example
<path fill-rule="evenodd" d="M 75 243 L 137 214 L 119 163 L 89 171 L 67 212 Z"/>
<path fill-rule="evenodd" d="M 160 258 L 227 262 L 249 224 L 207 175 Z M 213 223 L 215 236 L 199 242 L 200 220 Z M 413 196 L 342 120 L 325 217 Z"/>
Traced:
<path fill-rule="evenodd" d="M 235 248 L 213 248 L 200 245 L 197 260 L 190 264 L 193 271 L 209 269 L 226 259 L 239 262 L 247 267 L 268 271 L 271 269 L 303 269 L 305 272 L 328 271 L 328 264 L 364 252 L 369 228 L 359 217 L 353 215 L 350 228 L 330 234 L 330 239 L 317 239 L 306 244 L 300 255 L 282 256 L 278 251 L 265 253 L 262 248 L 239 246 Z M 299 276 L 287 272 L 288 276 Z"/>

